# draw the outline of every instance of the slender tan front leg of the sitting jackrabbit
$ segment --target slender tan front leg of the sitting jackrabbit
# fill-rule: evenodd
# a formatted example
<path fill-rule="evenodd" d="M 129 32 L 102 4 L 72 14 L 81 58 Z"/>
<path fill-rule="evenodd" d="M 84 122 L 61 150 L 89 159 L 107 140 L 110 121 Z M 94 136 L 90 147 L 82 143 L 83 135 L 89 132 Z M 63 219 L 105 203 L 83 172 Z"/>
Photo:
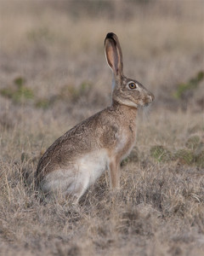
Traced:
<path fill-rule="evenodd" d="M 120 176 L 121 176 L 121 169 L 120 169 L 120 162 L 116 160 L 111 160 L 109 163 L 109 175 L 110 175 L 110 183 L 111 189 L 120 189 Z"/>

